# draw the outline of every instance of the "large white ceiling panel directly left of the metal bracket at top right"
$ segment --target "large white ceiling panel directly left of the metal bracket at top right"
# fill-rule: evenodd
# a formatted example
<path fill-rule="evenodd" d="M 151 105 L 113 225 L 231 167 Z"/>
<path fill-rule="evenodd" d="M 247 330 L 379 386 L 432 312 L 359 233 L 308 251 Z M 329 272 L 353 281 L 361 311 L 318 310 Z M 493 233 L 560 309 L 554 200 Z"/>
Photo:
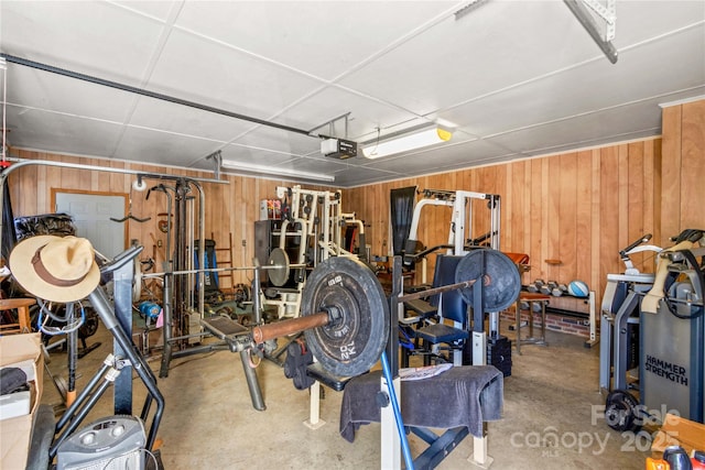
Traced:
<path fill-rule="evenodd" d="M 540 20 L 538 20 L 540 19 Z M 511 26 L 509 26 L 511 24 Z M 487 2 L 340 80 L 419 114 L 600 56 L 563 2 Z"/>

